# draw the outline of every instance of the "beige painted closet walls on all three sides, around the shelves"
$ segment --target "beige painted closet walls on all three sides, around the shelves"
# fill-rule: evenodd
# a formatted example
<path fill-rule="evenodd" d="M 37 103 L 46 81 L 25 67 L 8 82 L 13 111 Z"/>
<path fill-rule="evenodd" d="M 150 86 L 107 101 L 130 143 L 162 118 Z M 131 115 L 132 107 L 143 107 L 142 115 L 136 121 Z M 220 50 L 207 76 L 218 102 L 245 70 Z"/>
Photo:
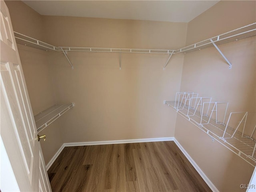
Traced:
<path fill-rule="evenodd" d="M 55 46 L 176 49 L 256 20 L 255 1 L 220 1 L 188 24 L 40 16 L 6 4 L 15 31 Z M 164 71 L 166 55 L 122 54 L 119 70 L 118 53 L 69 52 L 72 70 L 61 53 L 18 48 L 35 114 L 55 98 L 76 105 L 40 132 L 46 163 L 63 142 L 175 136 L 220 191 L 249 182 L 252 166 L 162 102 L 186 90 L 228 101 L 229 112 L 256 111 L 255 37 L 220 45 L 232 70 L 214 48 L 174 55 Z"/>

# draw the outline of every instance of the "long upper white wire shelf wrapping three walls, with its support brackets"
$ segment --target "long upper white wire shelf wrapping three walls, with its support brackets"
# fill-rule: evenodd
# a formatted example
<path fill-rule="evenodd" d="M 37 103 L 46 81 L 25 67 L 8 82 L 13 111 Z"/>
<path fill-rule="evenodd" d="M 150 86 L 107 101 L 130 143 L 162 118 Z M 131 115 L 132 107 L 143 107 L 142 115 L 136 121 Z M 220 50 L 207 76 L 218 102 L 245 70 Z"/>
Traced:
<path fill-rule="evenodd" d="M 218 45 L 228 43 L 231 41 L 238 41 L 243 38 L 248 38 L 251 36 L 256 35 L 256 23 L 249 24 L 247 26 L 243 26 L 241 28 L 226 32 L 224 34 L 220 34 L 218 36 L 214 36 L 212 38 L 197 42 L 195 44 L 192 44 L 190 46 L 186 46 L 184 48 L 179 48 L 177 50 L 171 50 L 171 49 L 136 49 L 136 48 L 92 48 L 92 47 L 65 47 L 65 46 L 52 46 L 50 44 L 44 43 L 40 40 L 36 40 L 34 38 L 28 37 L 26 35 L 20 34 L 18 32 L 14 32 L 14 36 L 16 38 L 16 42 L 19 44 L 23 44 L 26 46 L 31 46 L 34 48 L 38 48 L 45 51 L 56 51 L 56 52 L 62 52 L 66 59 L 68 60 L 71 68 L 73 69 L 74 66 L 70 59 L 68 58 L 68 52 L 118 52 L 119 53 L 119 68 L 121 69 L 121 54 L 122 53 L 143 53 L 143 54 L 168 54 L 169 57 L 164 64 L 164 70 L 170 61 L 170 58 L 173 54 L 179 54 L 179 53 L 189 53 L 193 51 L 202 50 L 204 48 L 212 47 L 214 46 L 218 52 L 222 55 L 222 57 L 226 60 L 226 62 L 229 65 L 229 69 L 232 68 L 232 64 L 229 62 L 228 58 L 224 56 L 224 54 L 221 52 L 221 50 L 218 48 Z"/>

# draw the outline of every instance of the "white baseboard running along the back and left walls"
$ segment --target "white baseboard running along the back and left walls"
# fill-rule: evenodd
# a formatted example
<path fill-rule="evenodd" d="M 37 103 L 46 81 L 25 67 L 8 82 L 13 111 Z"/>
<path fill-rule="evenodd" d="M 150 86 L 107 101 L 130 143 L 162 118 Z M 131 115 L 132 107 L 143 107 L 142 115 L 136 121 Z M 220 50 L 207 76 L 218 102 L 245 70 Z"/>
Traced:
<path fill-rule="evenodd" d="M 107 145 L 107 144 L 122 144 L 122 143 L 142 143 L 142 142 L 157 142 L 157 141 L 173 141 L 174 137 L 161 137 L 161 138 L 146 138 L 146 139 L 127 139 L 127 140 L 112 140 L 112 141 L 89 141 L 89 142 L 72 142 L 72 143 L 64 143 L 59 150 L 54 154 L 52 159 L 46 165 L 46 170 L 52 166 L 53 162 L 60 155 L 60 152 L 64 149 L 64 147 L 70 146 L 87 146 L 87 145 Z"/>

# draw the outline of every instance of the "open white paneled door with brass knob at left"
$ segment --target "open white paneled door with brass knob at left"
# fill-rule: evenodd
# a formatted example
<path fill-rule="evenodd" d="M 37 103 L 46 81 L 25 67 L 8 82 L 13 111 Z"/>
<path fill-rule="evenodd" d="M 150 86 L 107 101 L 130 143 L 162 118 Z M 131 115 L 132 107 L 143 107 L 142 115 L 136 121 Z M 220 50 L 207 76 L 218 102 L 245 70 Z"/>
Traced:
<path fill-rule="evenodd" d="M 19 190 L 51 191 L 10 14 L 3 0 L 0 10 L 0 136 Z"/>

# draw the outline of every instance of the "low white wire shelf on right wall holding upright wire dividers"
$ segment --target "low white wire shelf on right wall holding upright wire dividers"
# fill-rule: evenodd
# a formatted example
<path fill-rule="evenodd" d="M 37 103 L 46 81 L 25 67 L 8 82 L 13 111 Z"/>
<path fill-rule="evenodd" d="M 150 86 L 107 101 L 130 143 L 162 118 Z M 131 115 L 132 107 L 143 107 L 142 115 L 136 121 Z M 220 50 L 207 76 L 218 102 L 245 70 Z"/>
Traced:
<path fill-rule="evenodd" d="M 184 94 L 185 93 L 185 94 Z M 208 134 L 212 140 L 216 140 L 220 142 L 222 145 L 226 146 L 229 150 L 246 160 L 252 166 L 256 166 L 256 140 L 252 138 L 254 134 L 256 124 L 255 124 L 255 116 L 254 118 L 254 130 L 250 136 L 246 136 L 243 132 L 238 132 L 238 127 L 243 124 L 245 127 L 246 124 L 246 117 L 248 112 L 235 112 L 241 113 L 243 116 L 242 120 L 238 120 L 238 126 L 236 129 L 231 128 L 228 126 L 228 122 L 230 121 L 230 117 L 232 116 L 231 113 L 228 119 L 227 124 L 224 124 L 226 113 L 224 114 L 224 119 L 222 117 L 221 122 L 212 118 L 212 112 L 216 112 L 215 107 L 208 107 L 204 105 L 204 102 L 200 100 L 200 97 L 193 96 L 192 92 L 183 92 L 178 94 L 184 94 L 185 97 L 180 99 L 180 95 L 176 96 L 176 101 L 164 101 L 164 104 L 175 110 L 178 114 L 182 117 L 186 118 L 188 121 L 192 122 L 198 128 L 203 130 L 206 134 Z M 190 96 L 188 96 L 190 95 Z M 193 100 L 196 100 L 196 104 L 194 105 Z M 209 99 L 209 98 L 208 98 Z M 211 98 L 210 98 L 211 99 Z M 224 104 L 226 102 L 205 102 L 205 103 L 218 103 Z M 204 105 L 204 106 L 203 106 Z M 199 106 L 199 107 L 194 107 Z M 224 106 L 223 110 L 225 112 L 226 106 Z M 217 107 L 216 107 L 217 109 Z M 206 112 L 207 111 L 207 112 Z M 211 115 L 209 115 L 211 114 Z M 256 114 L 254 112 L 254 114 Z M 216 114 L 217 116 L 217 114 Z"/>

